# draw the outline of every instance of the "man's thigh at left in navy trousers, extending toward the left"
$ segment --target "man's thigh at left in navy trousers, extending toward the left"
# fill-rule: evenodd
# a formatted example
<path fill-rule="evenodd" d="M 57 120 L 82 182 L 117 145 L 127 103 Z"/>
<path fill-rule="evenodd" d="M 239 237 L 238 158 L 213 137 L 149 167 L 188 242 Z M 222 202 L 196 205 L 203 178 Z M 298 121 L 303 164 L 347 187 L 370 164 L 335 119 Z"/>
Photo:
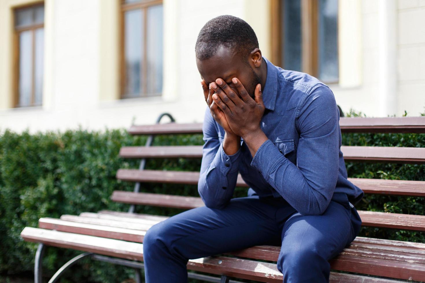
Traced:
<path fill-rule="evenodd" d="M 147 233 L 182 258 L 201 258 L 279 241 L 277 207 L 276 200 L 258 196 L 234 198 L 224 209 L 203 206 L 179 213 Z"/>

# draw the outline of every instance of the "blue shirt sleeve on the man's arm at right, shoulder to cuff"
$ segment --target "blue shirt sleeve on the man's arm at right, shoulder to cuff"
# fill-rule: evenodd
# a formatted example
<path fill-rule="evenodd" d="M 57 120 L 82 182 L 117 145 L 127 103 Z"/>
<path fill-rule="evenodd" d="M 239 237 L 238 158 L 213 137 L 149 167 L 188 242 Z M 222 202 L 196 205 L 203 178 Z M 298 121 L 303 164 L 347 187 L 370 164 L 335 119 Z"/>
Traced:
<path fill-rule="evenodd" d="M 260 146 L 251 165 L 301 215 L 320 215 L 337 184 L 340 151 L 338 109 L 329 87 L 314 86 L 297 107 L 296 117 L 297 165 L 271 140 Z"/>

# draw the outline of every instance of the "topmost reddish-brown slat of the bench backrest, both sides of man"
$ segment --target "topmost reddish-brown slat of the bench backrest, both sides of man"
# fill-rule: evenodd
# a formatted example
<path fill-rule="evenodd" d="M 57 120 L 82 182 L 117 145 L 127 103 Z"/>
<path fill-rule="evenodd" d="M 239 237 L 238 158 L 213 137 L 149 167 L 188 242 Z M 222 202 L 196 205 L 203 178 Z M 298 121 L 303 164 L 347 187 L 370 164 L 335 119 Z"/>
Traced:
<path fill-rule="evenodd" d="M 343 117 L 341 132 L 425 133 L 425 117 Z M 202 133 L 202 123 L 166 123 L 131 126 L 130 134 Z"/>

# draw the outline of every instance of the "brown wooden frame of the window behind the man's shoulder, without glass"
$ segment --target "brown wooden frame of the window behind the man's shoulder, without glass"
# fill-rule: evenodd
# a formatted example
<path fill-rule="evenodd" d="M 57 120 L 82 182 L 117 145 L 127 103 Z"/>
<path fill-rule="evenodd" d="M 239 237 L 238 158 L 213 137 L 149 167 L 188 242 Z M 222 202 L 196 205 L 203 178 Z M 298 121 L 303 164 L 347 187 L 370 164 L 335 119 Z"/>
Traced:
<path fill-rule="evenodd" d="M 283 67 L 283 45 L 282 45 L 282 1 L 270 0 L 270 18 L 271 18 L 271 61 L 275 65 Z M 318 42 L 318 24 L 319 24 L 319 2 L 317 0 L 301 1 L 301 68 L 302 72 L 308 73 L 314 77 L 319 75 L 319 42 Z M 339 13 L 337 14 L 337 27 L 339 22 Z M 337 32 L 337 42 L 339 41 Z M 337 58 L 339 60 L 339 45 L 337 44 Z M 337 84 L 337 81 L 326 81 L 328 84 Z"/>

